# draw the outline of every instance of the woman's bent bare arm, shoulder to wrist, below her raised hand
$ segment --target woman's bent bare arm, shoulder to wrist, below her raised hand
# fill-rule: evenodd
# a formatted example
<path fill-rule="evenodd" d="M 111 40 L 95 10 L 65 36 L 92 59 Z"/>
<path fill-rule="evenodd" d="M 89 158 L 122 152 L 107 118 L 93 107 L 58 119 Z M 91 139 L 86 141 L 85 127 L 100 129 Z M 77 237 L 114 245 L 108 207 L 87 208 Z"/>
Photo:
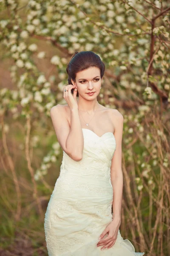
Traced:
<path fill-rule="evenodd" d="M 59 145 L 75 161 L 82 159 L 84 147 L 82 127 L 79 119 L 78 108 L 71 111 L 71 127 L 69 125 L 65 106 L 57 105 L 51 108 L 50 114 L 57 135 Z"/>

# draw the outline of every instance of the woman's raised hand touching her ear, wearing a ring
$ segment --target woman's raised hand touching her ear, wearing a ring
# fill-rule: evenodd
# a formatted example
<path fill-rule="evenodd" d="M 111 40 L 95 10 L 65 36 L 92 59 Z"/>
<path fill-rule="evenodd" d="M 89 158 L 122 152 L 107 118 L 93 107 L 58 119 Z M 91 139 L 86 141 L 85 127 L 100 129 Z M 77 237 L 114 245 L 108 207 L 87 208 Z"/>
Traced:
<path fill-rule="evenodd" d="M 72 94 L 71 89 L 73 88 L 74 88 L 74 93 Z M 63 89 L 63 98 L 67 102 L 70 109 L 78 108 L 77 99 L 76 99 L 77 90 L 75 89 L 77 89 L 77 86 L 73 84 L 68 84 Z M 65 91 L 65 90 L 68 90 L 68 91 Z"/>

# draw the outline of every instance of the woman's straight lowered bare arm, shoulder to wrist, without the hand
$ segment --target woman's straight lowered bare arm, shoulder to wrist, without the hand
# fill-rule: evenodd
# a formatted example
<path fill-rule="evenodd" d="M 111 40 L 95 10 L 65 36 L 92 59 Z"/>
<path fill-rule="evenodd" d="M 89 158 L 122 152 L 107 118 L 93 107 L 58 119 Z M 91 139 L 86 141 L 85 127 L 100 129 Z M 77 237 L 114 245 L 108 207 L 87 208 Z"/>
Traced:
<path fill-rule="evenodd" d="M 113 186 L 113 218 L 121 220 L 122 192 L 123 192 L 123 174 L 122 174 L 122 133 L 123 133 L 123 116 L 114 110 L 113 113 L 116 150 L 112 157 L 111 163 L 111 183 Z"/>

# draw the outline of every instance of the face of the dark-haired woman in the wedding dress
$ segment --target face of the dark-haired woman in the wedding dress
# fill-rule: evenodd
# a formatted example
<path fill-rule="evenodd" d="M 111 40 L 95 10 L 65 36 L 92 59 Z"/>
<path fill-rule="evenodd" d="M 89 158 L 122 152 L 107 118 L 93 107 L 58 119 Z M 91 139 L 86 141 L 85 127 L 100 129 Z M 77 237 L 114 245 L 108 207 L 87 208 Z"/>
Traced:
<path fill-rule="evenodd" d="M 89 67 L 76 74 L 75 83 L 72 79 L 71 82 L 72 84 L 77 85 L 79 96 L 82 96 L 85 99 L 94 99 L 100 93 L 102 79 L 98 67 Z M 94 94 L 92 96 L 88 95 L 90 92 L 94 92 Z"/>

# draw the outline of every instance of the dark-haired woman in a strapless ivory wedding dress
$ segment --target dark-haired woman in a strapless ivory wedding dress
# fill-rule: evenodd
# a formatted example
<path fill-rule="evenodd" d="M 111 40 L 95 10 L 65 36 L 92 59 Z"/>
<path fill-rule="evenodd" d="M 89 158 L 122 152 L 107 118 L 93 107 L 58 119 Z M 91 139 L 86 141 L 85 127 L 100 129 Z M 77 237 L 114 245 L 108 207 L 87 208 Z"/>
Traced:
<path fill-rule="evenodd" d="M 51 108 L 63 158 L 45 213 L 49 256 L 144 254 L 119 231 L 123 116 L 97 101 L 104 71 L 94 52 L 75 52 L 63 90 L 67 104 Z"/>

